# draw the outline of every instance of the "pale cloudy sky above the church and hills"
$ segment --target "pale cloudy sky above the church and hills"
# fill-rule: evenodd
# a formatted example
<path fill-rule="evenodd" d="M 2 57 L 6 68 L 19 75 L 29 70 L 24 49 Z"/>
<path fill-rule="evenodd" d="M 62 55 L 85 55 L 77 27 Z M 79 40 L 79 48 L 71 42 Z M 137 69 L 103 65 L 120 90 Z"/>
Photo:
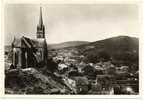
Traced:
<path fill-rule="evenodd" d="M 97 41 L 119 35 L 138 37 L 138 6 L 135 4 L 41 5 L 46 40 Z M 5 44 L 14 37 L 36 38 L 40 5 L 7 4 L 4 14 Z"/>

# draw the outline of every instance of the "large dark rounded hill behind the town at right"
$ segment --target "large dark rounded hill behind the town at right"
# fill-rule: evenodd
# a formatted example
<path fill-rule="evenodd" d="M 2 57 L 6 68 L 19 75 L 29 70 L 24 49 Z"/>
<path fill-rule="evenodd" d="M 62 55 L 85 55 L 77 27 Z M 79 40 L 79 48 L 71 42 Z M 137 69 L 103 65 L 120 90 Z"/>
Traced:
<path fill-rule="evenodd" d="M 108 38 L 77 46 L 76 49 L 88 60 L 93 57 L 98 59 L 102 52 L 102 56 L 109 55 L 115 62 L 138 65 L 139 39 L 135 37 L 118 36 Z"/>

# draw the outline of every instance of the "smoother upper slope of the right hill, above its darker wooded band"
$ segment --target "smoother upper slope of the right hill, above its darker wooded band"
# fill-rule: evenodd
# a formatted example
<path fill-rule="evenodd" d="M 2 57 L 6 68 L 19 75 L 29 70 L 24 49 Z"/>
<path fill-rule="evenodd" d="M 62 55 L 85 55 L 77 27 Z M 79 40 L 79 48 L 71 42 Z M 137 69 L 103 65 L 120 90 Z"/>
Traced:
<path fill-rule="evenodd" d="M 102 49 L 110 53 L 122 51 L 138 52 L 139 40 L 135 37 L 118 36 L 78 46 L 77 48 L 83 48 L 87 51 L 90 49 L 95 49 L 96 51 Z"/>

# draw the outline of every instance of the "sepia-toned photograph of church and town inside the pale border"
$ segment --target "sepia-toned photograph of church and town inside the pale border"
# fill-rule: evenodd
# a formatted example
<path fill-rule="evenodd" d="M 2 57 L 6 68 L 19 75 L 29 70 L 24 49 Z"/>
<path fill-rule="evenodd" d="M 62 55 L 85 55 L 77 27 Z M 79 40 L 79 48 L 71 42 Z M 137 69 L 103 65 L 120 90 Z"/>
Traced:
<path fill-rule="evenodd" d="M 4 92 L 139 95 L 137 4 L 5 4 Z"/>

